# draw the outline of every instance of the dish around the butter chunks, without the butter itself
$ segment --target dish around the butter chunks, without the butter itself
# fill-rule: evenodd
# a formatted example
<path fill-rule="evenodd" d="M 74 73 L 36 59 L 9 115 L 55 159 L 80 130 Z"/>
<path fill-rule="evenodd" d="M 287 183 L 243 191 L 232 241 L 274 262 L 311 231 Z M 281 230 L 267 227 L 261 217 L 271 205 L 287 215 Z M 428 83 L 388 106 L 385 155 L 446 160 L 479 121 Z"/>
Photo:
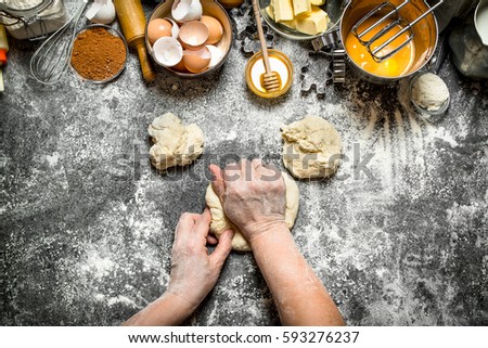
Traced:
<path fill-rule="evenodd" d="M 261 13 L 262 18 L 265 18 L 265 22 L 271 27 L 271 29 L 273 29 L 275 33 L 278 33 L 279 35 L 281 35 L 287 39 L 303 41 L 303 40 L 312 40 L 321 35 L 324 35 L 325 33 L 329 33 L 332 29 L 334 29 L 338 25 L 342 13 L 343 13 L 343 11 L 341 9 L 342 2 L 343 2 L 342 0 L 326 0 L 325 4 L 319 7 L 328 13 L 331 22 L 329 23 L 328 29 L 324 33 L 321 33 L 318 35 L 303 34 L 300 31 L 291 29 L 291 28 L 284 26 L 283 24 L 271 20 L 268 12 L 266 12 L 266 8 L 268 8 L 270 5 L 271 0 L 259 0 L 258 5 L 259 5 L 259 12 Z"/>

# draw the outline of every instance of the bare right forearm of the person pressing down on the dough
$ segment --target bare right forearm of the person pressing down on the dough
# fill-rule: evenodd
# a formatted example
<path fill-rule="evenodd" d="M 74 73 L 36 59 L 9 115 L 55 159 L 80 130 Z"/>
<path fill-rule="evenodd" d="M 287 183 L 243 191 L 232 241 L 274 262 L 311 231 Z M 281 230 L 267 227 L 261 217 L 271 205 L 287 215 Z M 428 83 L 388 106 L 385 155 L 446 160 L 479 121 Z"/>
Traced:
<path fill-rule="evenodd" d="M 344 320 L 284 224 L 252 241 L 283 325 L 344 325 Z"/>

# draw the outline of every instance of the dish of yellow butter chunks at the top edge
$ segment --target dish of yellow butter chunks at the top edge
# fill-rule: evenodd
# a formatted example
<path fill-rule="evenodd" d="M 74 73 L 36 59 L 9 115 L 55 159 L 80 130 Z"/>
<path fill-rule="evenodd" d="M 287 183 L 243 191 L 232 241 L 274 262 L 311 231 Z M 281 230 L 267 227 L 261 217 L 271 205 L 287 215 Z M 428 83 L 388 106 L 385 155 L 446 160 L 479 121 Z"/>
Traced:
<path fill-rule="evenodd" d="M 342 15 L 341 0 L 259 0 L 266 23 L 292 40 L 311 40 L 332 30 Z"/>

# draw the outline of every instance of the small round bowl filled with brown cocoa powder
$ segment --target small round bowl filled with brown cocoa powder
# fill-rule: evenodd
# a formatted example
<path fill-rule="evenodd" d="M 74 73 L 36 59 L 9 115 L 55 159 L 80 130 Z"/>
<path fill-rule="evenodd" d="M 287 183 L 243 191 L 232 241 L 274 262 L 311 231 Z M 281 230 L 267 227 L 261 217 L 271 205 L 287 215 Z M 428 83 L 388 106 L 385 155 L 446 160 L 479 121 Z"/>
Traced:
<path fill-rule="evenodd" d="M 76 34 L 70 65 L 82 80 L 105 83 L 124 70 L 128 52 L 127 42 L 117 29 L 92 24 Z"/>

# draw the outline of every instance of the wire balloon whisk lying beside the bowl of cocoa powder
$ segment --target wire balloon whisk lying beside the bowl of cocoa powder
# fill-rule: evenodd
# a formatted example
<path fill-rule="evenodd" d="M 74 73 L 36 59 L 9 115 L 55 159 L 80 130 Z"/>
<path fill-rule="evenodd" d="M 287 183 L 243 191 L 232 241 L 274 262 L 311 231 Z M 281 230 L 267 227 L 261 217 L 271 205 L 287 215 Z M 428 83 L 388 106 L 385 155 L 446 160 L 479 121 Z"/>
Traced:
<path fill-rule="evenodd" d="M 69 21 L 34 52 L 30 73 L 40 83 L 54 85 L 63 78 L 68 67 L 76 28 L 87 3 L 88 0 L 84 0 Z"/>

